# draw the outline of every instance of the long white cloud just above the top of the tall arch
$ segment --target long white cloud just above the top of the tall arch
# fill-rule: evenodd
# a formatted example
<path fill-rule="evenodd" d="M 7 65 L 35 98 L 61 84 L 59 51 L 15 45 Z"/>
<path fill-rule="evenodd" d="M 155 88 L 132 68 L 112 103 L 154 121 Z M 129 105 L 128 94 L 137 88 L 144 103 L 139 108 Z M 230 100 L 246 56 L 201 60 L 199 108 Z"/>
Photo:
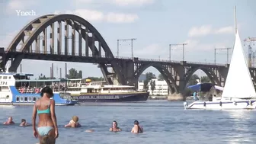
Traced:
<path fill-rule="evenodd" d="M 54 14 L 60 14 L 60 11 L 55 11 Z M 101 11 L 94 11 L 88 9 L 77 9 L 75 11 L 66 11 L 65 14 L 76 14 L 87 21 L 107 21 L 110 23 L 132 23 L 139 19 L 137 14 L 123 14 L 109 12 L 104 14 Z"/>

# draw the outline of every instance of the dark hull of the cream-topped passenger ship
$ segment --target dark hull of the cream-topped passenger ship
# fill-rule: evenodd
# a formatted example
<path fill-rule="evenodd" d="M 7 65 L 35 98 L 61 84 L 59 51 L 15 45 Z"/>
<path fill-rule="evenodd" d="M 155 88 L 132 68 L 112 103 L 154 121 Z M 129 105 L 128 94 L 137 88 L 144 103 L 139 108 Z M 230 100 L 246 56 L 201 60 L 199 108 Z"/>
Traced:
<path fill-rule="evenodd" d="M 81 94 L 73 97 L 80 103 L 84 102 L 142 102 L 147 101 L 149 92 L 131 94 Z"/>

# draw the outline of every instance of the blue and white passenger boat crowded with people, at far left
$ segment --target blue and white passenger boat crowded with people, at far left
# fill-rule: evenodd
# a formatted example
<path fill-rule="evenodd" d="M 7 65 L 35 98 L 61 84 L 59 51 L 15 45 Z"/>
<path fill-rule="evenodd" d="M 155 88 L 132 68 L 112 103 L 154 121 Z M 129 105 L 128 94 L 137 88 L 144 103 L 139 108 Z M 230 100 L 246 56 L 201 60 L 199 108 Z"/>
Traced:
<path fill-rule="evenodd" d="M 27 73 L 0 73 L 0 105 L 32 105 L 40 98 L 41 86 L 47 80 L 30 80 L 33 74 Z M 48 81 L 48 83 L 51 83 Z M 78 101 L 72 100 L 69 93 L 53 92 L 56 105 L 75 105 Z"/>

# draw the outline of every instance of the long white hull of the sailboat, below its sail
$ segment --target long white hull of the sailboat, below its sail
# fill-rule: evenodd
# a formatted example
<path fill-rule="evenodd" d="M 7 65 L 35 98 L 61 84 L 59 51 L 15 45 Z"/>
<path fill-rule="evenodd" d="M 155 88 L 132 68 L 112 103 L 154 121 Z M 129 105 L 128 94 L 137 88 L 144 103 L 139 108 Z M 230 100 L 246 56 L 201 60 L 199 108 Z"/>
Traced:
<path fill-rule="evenodd" d="M 204 110 L 238 110 L 255 109 L 256 100 L 239 101 L 194 101 L 192 104 L 184 102 L 185 109 L 204 109 Z"/>

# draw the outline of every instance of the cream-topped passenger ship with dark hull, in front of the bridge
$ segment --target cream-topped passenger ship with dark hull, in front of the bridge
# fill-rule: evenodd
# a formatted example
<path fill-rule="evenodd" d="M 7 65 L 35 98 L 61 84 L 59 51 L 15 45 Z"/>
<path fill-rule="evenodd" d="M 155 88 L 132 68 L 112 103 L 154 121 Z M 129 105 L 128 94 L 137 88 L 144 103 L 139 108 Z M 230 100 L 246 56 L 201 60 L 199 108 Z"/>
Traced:
<path fill-rule="evenodd" d="M 141 102 L 147 101 L 149 92 L 136 91 L 130 85 L 106 85 L 91 79 L 69 79 L 66 92 L 78 102 Z"/>

